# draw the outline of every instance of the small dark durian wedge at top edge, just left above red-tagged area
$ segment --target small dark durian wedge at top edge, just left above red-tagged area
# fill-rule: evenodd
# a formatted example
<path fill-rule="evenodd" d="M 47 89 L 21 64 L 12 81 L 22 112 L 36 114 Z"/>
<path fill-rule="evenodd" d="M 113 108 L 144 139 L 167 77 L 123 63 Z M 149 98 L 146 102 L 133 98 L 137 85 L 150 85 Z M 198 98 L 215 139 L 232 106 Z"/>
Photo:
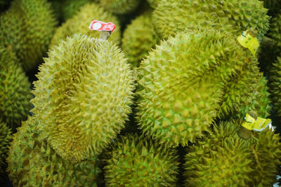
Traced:
<path fill-rule="evenodd" d="M 63 20 L 68 20 L 79 12 L 84 4 L 91 3 L 93 0 L 65 0 L 62 3 Z M 97 2 L 97 1 L 96 1 Z"/>

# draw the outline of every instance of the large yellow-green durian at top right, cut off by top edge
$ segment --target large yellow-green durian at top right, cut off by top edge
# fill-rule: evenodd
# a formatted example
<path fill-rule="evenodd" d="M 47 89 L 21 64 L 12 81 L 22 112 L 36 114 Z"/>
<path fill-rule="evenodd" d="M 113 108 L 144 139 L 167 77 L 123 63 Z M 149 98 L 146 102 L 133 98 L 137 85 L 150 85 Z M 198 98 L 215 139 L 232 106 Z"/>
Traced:
<path fill-rule="evenodd" d="M 164 39 L 185 29 L 200 27 L 223 29 L 235 35 L 252 27 L 261 39 L 269 27 L 266 13 L 259 0 L 166 0 L 159 1 L 152 23 Z"/>

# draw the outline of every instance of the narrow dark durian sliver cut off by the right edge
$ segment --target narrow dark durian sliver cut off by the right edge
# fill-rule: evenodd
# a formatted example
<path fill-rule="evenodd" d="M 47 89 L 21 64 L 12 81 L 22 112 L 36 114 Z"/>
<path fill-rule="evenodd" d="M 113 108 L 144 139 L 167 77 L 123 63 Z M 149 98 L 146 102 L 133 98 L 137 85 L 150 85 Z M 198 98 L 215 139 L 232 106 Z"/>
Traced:
<path fill-rule="evenodd" d="M 269 76 L 269 91 L 270 100 L 273 103 L 273 109 L 277 116 L 281 116 L 281 58 L 277 57 L 277 60 L 273 63 L 273 67 L 270 69 Z"/>

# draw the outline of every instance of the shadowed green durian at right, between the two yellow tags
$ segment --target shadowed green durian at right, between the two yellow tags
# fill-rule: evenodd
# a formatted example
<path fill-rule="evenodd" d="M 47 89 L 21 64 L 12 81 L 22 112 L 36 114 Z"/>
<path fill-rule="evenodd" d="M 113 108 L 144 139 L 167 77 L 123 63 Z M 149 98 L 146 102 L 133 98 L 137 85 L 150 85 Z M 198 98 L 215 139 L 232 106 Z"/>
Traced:
<path fill-rule="evenodd" d="M 267 81 L 259 73 L 256 59 L 245 64 L 241 73 L 226 83 L 218 118 L 244 118 L 251 110 L 256 111 L 261 118 L 268 116 L 270 102 Z"/>

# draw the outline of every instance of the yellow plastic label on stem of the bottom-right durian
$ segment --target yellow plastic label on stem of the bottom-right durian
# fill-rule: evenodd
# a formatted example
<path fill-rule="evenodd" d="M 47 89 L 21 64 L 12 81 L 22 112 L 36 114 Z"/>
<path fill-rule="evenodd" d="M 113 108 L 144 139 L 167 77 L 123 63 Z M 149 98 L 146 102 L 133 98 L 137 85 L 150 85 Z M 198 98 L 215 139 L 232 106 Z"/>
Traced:
<path fill-rule="evenodd" d="M 244 118 L 244 123 L 242 123 L 242 126 L 247 128 L 248 130 L 256 130 L 256 131 L 262 131 L 268 125 L 271 124 L 270 119 L 266 118 L 257 118 L 256 120 L 251 117 L 248 113 L 246 114 L 246 117 Z"/>

